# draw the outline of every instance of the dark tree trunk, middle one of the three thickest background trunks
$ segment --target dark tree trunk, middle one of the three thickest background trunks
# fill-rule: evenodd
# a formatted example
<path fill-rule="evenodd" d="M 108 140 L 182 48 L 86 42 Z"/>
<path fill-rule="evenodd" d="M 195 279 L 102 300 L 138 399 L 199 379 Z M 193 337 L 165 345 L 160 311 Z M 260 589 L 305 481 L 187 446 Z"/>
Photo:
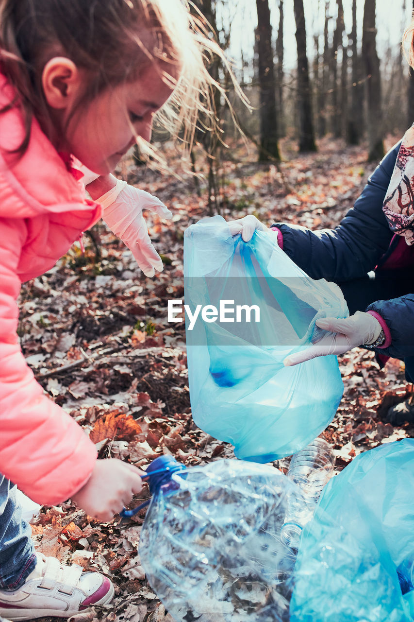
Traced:
<path fill-rule="evenodd" d="M 299 151 L 317 151 L 313 132 L 311 88 L 308 57 L 306 56 L 306 26 L 303 0 L 293 0 L 296 22 L 296 43 L 298 50 L 298 111 Z"/>

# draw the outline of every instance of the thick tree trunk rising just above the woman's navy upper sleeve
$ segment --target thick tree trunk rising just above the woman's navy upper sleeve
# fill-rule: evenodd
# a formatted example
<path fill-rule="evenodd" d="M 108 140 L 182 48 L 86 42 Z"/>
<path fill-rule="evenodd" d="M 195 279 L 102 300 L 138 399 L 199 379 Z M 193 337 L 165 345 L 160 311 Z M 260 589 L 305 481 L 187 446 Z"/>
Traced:
<path fill-rule="evenodd" d="M 375 0 L 365 0 L 364 21 L 362 24 L 362 58 L 364 59 L 367 75 L 369 161 L 380 160 L 384 156 L 384 142 L 382 141 L 381 78 L 379 58 L 375 45 L 376 34 Z"/>

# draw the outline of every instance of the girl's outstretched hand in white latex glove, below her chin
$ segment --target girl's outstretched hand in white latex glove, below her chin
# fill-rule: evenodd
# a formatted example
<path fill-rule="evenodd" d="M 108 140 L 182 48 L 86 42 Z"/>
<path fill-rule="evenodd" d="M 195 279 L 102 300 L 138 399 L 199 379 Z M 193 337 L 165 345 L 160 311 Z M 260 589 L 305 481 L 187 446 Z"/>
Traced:
<path fill-rule="evenodd" d="M 172 213 L 159 198 L 119 179 L 116 186 L 96 202 L 103 207 L 103 220 L 132 251 L 145 276 L 154 276 L 155 269 L 161 272 L 162 260 L 150 240 L 142 215 L 142 210 L 150 210 L 161 218 L 172 218 Z"/>

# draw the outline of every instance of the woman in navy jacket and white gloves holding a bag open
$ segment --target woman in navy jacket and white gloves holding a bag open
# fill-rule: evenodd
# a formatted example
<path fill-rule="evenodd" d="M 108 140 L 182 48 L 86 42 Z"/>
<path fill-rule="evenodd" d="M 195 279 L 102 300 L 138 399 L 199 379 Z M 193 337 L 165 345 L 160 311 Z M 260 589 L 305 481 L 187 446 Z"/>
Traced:
<path fill-rule="evenodd" d="M 285 364 L 362 345 L 374 350 L 380 363 L 387 356 L 405 361 L 406 378 L 414 381 L 413 182 L 414 126 L 380 162 L 336 228 L 272 225 L 279 246 L 295 264 L 311 278 L 341 287 L 351 314 L 317 320 L 329 333 Z M 264 228 L 254 216 L 229 226 L 245 240 L 255 228 Z"/>

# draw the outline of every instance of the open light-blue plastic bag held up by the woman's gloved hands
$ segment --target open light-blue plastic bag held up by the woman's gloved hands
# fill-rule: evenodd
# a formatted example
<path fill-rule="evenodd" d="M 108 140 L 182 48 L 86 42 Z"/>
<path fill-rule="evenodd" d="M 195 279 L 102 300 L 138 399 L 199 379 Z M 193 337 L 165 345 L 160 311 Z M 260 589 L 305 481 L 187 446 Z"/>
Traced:
<path fill-rule="evenodd" d="M 341 290 L 310 279 L 273 231 L 255 231 L 246 243 L 221 216 L 186 230 L 184 276 L 195 423 L 244 460 L 270 462 L 305 447 L 341 400 L 338 361 L 322 356 L 285 368 L 283 360 L 324 333 L 317 318 L 347 317 Z"/>

